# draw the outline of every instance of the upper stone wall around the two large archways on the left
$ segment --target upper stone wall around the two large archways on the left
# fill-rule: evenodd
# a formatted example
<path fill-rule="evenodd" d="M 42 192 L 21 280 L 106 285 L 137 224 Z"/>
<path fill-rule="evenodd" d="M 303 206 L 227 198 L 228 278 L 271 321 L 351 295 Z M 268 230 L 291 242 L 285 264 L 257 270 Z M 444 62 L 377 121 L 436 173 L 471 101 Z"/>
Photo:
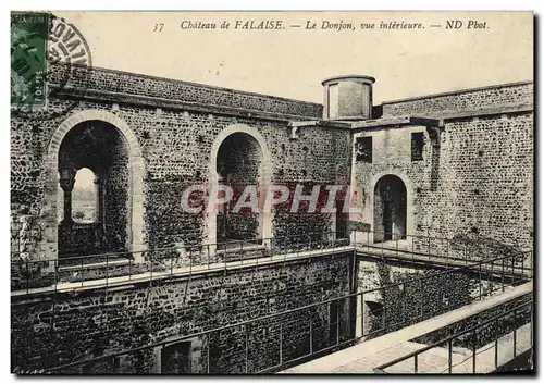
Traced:
<path fill-rule="evenodd" d="M 299 139 L 292 140 L 283 121 L 182 110 L 158 112 L 152 108 L 124 104 L 112 109 L 110 103 L 89 101 L 79 101 L 64 113 L 71 104 L 72 101 L 67 100 L 50 100 L 49 114 L 40 119 L 12 116 L 11 201 L 14 219 L 42 215 L 44 201 L 51 196 L 46 193 L 48 177 L 55 177 L 47 173 L 51 137 L 65 119 L 88 110 L 113 114 L 124 121 L 136 137 L 135 146 L 141 150 L 144 162 L 144 243 L 147 240 L 149 247 L 202 240 L 205 214 L 183 212 L 181 197 L 186 187 L 209 182 L 211 147 L 226 127 L 246 125 L 264 137 L 271 153 L 271 183 L 334 184 L 338 177 L 349 179 L 350 139 L 346 131 L 308 127 L 300 129 Z M 54 113 L 61 115 L 54 116 Z M 320 232 L 323 225 L 330 227 L 330 220 L 324 216 L 314 223 L 300 215 L 295 220 L 298 224 L 295 231 Z M 279 216 L 275 228 L 282 228 L 286 223 Z M 42 231 L 48 231 L 49 224 L 41 225 Z"/>

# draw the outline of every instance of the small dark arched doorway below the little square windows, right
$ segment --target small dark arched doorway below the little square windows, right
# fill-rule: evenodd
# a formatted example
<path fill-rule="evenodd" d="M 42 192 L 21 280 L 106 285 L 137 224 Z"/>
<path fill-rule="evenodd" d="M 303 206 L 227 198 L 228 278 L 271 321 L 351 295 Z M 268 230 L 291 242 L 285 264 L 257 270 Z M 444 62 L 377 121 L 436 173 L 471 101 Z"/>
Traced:
<path fill-rule="evenodd" d="M 374 187 L 374 243 L 405 239 L 406 233 L 406 185 L 398 176 L 382 176 Z"/>

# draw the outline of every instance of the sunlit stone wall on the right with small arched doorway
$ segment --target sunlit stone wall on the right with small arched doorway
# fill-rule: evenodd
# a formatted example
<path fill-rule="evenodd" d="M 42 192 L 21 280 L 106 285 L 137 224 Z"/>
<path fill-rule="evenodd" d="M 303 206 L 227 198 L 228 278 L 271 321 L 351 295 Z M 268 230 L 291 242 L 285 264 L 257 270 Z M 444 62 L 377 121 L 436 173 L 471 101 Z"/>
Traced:
<path fill-rule="evenodd" d="M 440 119 L 445 111 L 500 108 L 507 102 L 531 100 L 532 84 L 520 84 L 384 103 L 384 114 L 387 111 Z M 446 120 L 440 147 L 432 146 L 423 126 L 380 126 L 356 134 L 354 141 L 361 136 L 373 138 L 372 163 L 355 162 L 354 182 L 363 206 L 363 214 L 357 220 L 372 224 L 375 183 L 382 175 L 393 174 L 403 178 L 408 195 L 410 190 L 412 194 L 408 234 L 449 239 L 477 235 L 518 249 L 531 248 L 533 131 L 531 111 L 498 110 L 494 114 Z M 423 160 L 411 159 L 413 132 L 424 134 Z M 438 249 L 442 252 L 445 255 L 446 249 Z"/>

